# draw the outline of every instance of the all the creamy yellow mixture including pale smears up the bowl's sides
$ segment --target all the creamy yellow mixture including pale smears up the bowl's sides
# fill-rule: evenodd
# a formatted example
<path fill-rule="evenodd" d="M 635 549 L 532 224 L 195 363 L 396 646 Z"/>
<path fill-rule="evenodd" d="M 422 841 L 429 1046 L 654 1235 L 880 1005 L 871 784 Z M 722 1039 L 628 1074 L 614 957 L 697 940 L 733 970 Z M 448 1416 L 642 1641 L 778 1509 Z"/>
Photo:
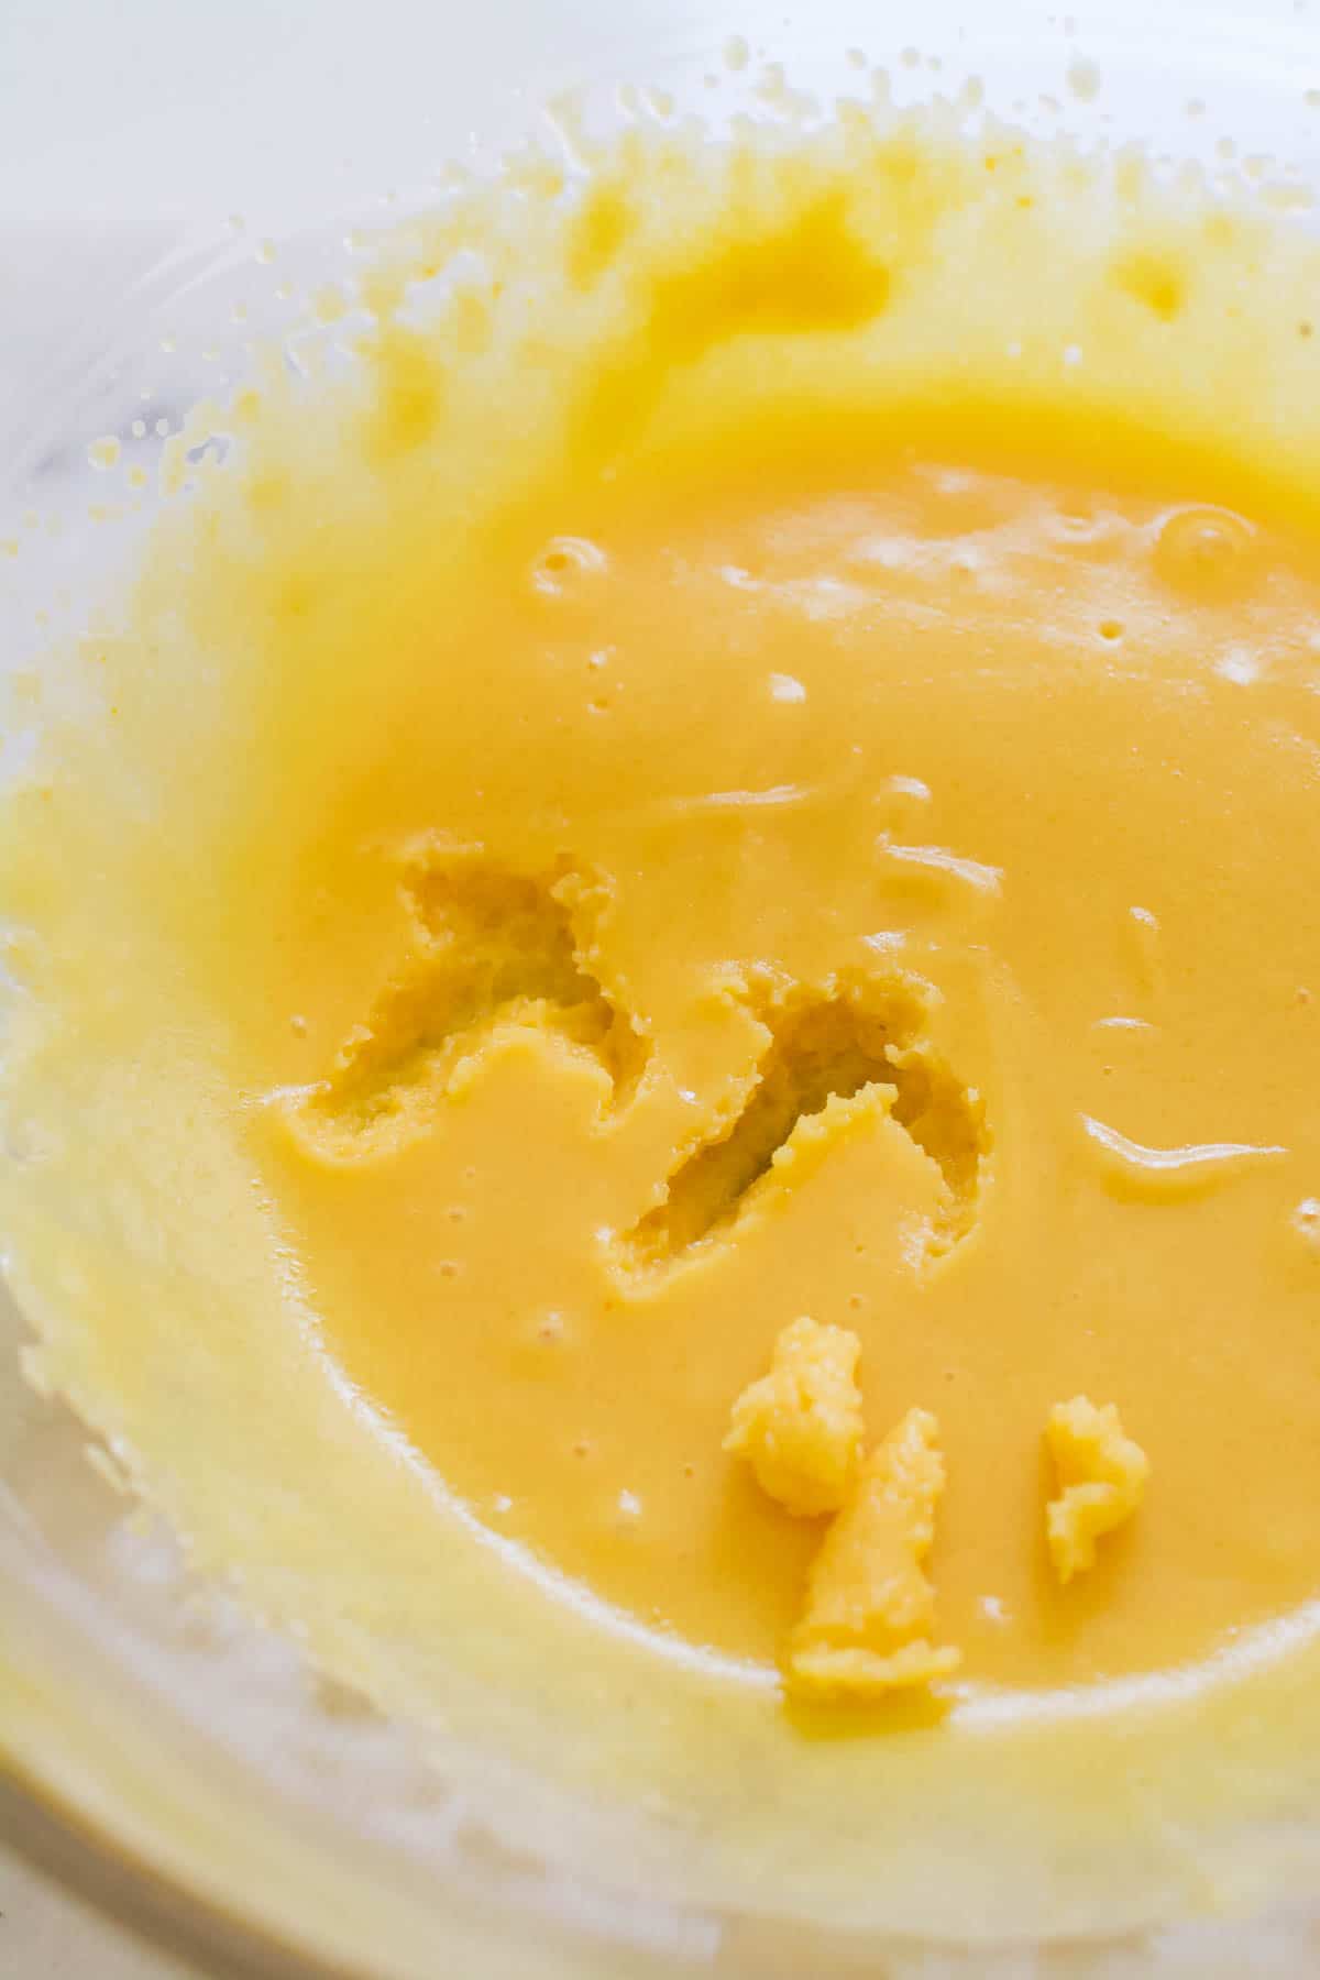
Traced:
<path fill-rule="evenodd" d="M 46 1378 L 388 1707 L 722 1810 L 716 1885 L 782 1794 L 803 1913 L 1199 1901 L 1308 1766 L 1314 249 L 879 113 L 519 198 L 206 416 L 10 808 Z M 825 1740 L 821 1523 L 722 1449 L 803 1313 L 938 1416 L 962 1649 Z M 1079 1392 L 1150 1487 L 1061 1588 Z"/>

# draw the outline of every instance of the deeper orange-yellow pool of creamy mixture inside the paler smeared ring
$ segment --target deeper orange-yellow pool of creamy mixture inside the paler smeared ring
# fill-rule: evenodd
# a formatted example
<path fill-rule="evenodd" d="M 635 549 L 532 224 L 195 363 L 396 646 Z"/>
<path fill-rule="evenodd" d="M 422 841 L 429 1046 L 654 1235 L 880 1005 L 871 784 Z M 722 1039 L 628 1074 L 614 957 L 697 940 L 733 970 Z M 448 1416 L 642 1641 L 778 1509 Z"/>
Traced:
<path fill-rule="evenodd" d="M 325 1079 L 354 1024 L 404 1030 L 358 1091 L 265 1111 L 261 1154 L 336 1358 L 497 1531 L 772 1665 L 819 1529 L 720 1441 L 805 1311 L 861 1336 L 877 1426 L 940 1414 L 966 1675 L 1065 1685 L 1199 1657 L 1316 1588 L 1320 1257 L 1288 1218 L 1320 1178 L 1320 907 L 1280 857 L 1310 843 L 1316 772 L 1278 729 L 1310 715 L 1320 588 L 1276 527 L 1207 519 L 1201 574 L 1176 485 L 991 471 L 974 408 L 962 428 L 952 463 L 823 430 L 770 465 L 760 434 L 750 483 L 734 432 L 637 489 L 560 491 L 552 588 L 532 531 L 473 558 L 378 762 L 321 820 L 297 877 L 315 925 L 251 986 L 263 1083 Z M 1261 679 L 1225 675 L 1239 653 Z M 400 877 L 390 851 L 431 818 L 445 838 Z M 600 903 L 554 901 L 558 863 Z M 346 976 L 364 867 L 477 966 L 501 917 L 540 921 L 515 952 L 574 931 L 615 1063 L 520 1008 L 505 964 L 513 996 L 457 1020 L 459 1091 L 441 1073 L 406 1131 L 354 1127 L 425 1081 L 410 1053 L 443 1049 L 455 994 L 445 962 L 396 1018 L 427 970 L 408 927 L 374 952 L 408 990 Z M 477 899 L 451 909 L 459 881 Z M 857 1115 L 887 1028 L 932 1043 L 934 1152 L 879 1095 Z M 817 1146 L 831 1091 L 853 1111 Z M 1146 1174 L 1086 1119 L 1284 1152 Z M 752 1180 L 776 1148 L 807 1172 Z M 1120 1400 L 1156 1485 L 1059 1592 L 1041 1434 L 1079 1388 Z"/>

